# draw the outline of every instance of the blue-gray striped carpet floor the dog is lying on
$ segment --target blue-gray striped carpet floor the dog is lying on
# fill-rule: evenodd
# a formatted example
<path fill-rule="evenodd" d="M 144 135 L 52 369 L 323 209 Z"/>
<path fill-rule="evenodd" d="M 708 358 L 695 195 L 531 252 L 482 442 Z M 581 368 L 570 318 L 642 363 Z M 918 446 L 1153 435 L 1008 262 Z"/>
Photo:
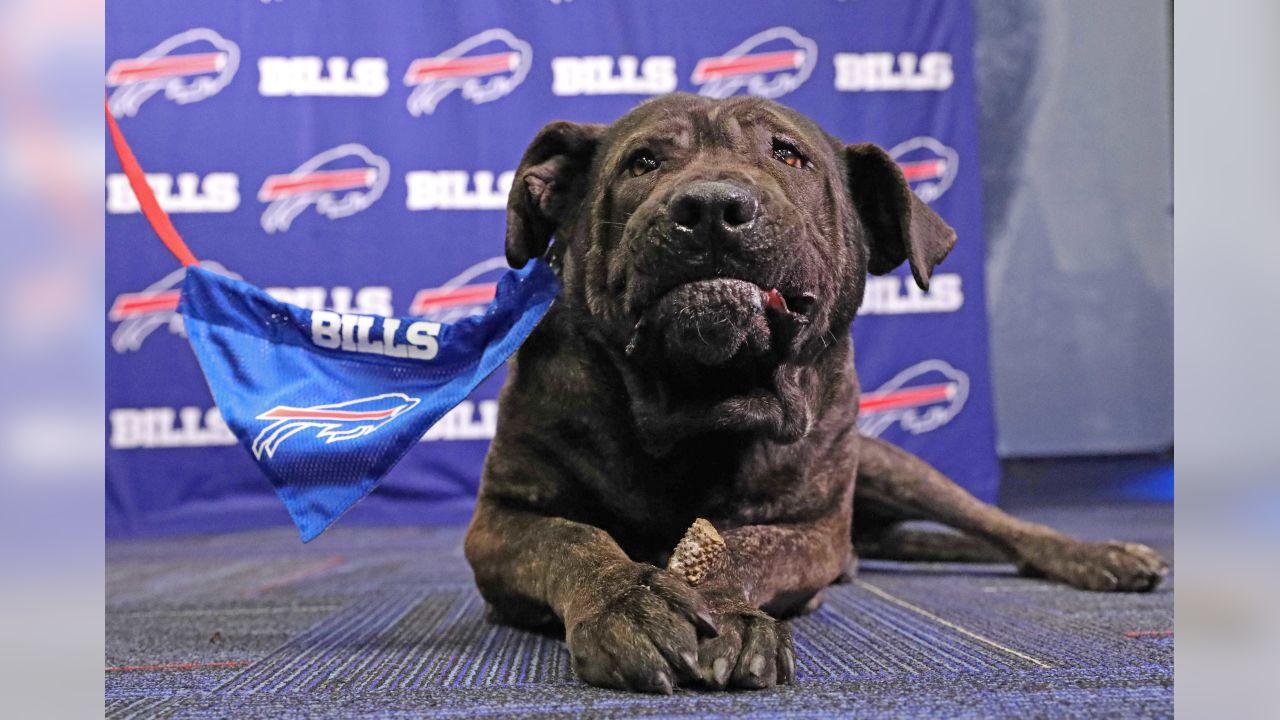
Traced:
<path fill-rule="evenodd" d="M 1023 512 L 1172 560 L 1170 505 Z M 461 529 L 108 543 L 108 717 L 1172 715 L 1172 578 L 1096 594 L 998 565 L 864 562 L 792 624 L 799 683 L 600 691 L 556 639 L 489 625 Z"/>

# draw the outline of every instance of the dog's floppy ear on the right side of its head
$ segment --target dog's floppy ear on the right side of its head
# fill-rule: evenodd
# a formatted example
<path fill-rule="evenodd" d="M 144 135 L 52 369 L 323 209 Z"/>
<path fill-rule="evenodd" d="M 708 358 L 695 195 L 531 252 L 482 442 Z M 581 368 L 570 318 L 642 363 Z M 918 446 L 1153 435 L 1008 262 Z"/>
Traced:
<path fill-rule="evenodd" d="M 915 284 L 929 290 L 929 274 L 956 243 L 956 232 L 911 192 L 901 168 L 879 146 L 849 145 L 845 161 L 870 246 L 867 270 L 883 275 L 909 260 Z"/>

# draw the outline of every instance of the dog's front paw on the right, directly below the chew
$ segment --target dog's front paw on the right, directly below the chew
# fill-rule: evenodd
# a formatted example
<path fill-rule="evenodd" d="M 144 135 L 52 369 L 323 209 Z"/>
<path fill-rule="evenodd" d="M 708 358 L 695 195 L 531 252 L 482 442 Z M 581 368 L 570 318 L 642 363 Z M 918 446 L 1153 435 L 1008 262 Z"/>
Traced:
<path fill-rule="evenodd" d="M 713 603 L 719 634 L 698 647 L 703 684 L 709 688 L 772 688 L 795 682 L 791 630 L 746 603 Z"/>

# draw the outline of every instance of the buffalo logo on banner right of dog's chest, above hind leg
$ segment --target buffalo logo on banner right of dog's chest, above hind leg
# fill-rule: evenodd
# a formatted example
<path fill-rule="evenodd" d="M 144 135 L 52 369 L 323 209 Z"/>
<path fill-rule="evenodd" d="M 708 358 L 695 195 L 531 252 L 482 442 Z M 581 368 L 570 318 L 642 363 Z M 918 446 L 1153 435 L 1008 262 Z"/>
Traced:
<path fill-rule="evenodd" d="M 942 360 L 925 360 L 863 393 L 858 429 L 879 437 L 893 424 L 918 436 L 946 425 L 969 400 L 969 375 Z"/>

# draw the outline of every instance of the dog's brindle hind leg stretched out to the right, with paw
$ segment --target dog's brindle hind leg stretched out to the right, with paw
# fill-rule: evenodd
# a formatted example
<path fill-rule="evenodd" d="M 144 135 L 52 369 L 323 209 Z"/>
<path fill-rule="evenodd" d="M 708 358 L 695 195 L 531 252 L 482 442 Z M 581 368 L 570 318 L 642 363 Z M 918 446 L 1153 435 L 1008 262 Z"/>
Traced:
<path fill-rule="evenodd" d="M 928 462 L 877 438 L 861 437 L 860 498 L 905 519 L 932 520 L 979 537 L 1018 562 L 1021 571 L 1092 591 L 1149 591 L 1167 565 L 1147 546 L 1082 542 L 1052 528 L 1019 520 L 973 497 Z"/>

